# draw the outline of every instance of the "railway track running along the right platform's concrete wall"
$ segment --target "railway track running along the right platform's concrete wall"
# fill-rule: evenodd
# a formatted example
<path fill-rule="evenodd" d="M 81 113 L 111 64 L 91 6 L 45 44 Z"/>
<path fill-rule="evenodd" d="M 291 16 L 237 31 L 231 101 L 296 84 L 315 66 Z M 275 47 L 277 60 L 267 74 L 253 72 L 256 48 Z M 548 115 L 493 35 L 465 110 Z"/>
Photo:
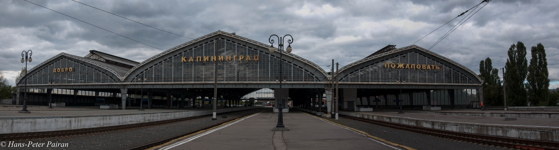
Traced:
<path fill-rule="evenodd" d="M 537 150 L 547 150 L 555 149 L 559 150 L 559 142 L 548 142 L 548 141 L 533 141 L 528 139 L 516 139 L 516 138 L 506 138 L 506 137 L 495 137 L 495 136 L 485 136 L 480 134 L 470 134 L 470 133 L 460 133 L 452 132 L 447 130 L 438 130 L 432 128 L 415 127 L 405 124 L 397 124 L 390 122 L 383 122 L 379 120 L 364 119 L 357 117 L 350 117 L 347 115 L 340 115 L 340 117 L 358 120 L 361 122 L 381 125 L 384 127 L 407 130 L 410 132 L 428 134 L 431 136 L 443 137 L 457 139 L 461 141 L 475 142 L 490 144 L 494 146 L 509 147 L 509 148 L 519 148 L 519 149 L 537 149 Z"/>

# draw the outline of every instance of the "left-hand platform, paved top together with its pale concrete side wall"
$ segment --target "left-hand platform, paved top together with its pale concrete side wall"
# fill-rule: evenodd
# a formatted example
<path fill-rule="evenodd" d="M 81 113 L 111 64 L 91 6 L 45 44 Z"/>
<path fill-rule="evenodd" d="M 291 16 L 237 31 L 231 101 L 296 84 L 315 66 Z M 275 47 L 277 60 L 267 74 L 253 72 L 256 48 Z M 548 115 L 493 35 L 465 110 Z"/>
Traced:
<path fill-rule="evenodd" d="M 268 106 L 218 108 L 216 113 L 234 112 Z M 158 108 L 138 111 L 139 107 L 122 109 L 54 108 L 30 110 L 31 113 L 18 113 L 19 110 L 0 110 L 0 134 L 48 132 L 84 128 L 109 127 L 135 123 L 157 122 L 161 120 L 211 115 L 211 108 Z M 73 111 L 72 111 L 73 110 Z"/>

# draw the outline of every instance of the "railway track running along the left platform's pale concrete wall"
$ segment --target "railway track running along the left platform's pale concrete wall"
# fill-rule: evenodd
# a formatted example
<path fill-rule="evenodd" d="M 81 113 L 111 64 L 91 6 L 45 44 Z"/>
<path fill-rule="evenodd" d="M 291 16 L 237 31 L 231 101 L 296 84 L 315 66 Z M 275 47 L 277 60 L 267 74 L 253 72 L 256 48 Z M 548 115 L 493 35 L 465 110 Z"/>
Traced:
<path fill-rule="evenodd" d="M 254 109 L 248 109 L 248 110 L 254 110 Z M 219 114 L 228 114 L 228 113 L 235 113 L 235 112 L 242 112 L 242 111 L 247 111 L 247 110 L 238 110 L 238 111 L 234 111 L 234 112 L 219 113 Z M 148 122 L 148 123 L 115 125 L 115 126 L 110 126 L 110 127 L 72 129 L 72 130 L 57 130 L 57 131 L 47 131 L 47 132 L 0 134 L 0 141 L 13 141 L 13 140 L 18 140 L 18 139 L 33 139 L 33 138 L 72 136 L 72 135 L 76 135 L 76 134 L 88 134 L 88 133 L 96 133 L 96 132 L 106 132 L 106 131 L 111 131 L 111 130 L 132 129 L 132 128 L 148 127 L 148 126 L 151 126 L 151 125 L 182 122 L 182 121 L 185 121 L 185 120 L 205 118 L 205 117 L 209 117 L 209 116 L 212 116 L 212 115 L 211 114 L 210 115 L 201 115 L 201 116 L 197 116 L 197 117 L 161 120 L 161 121 L 157 121 L 157 122 Z"/>

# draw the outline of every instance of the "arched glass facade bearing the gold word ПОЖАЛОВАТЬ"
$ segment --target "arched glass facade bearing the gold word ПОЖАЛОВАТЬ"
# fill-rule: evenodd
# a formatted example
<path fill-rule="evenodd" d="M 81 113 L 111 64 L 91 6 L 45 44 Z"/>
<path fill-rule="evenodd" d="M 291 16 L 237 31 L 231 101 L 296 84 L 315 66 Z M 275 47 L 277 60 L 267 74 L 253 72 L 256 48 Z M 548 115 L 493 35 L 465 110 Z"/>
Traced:
<path fill-rule="evenodd" d="M 420 69 L 417 69 L 418 67 Z M 416 51 L 367 65 L 350 72 L 340 81 L 395 83 L 399 78 L 402 78 L 406 83 L 474 84 L 471 79 L 461 72 L 444 66 L 444 64 Z"/>

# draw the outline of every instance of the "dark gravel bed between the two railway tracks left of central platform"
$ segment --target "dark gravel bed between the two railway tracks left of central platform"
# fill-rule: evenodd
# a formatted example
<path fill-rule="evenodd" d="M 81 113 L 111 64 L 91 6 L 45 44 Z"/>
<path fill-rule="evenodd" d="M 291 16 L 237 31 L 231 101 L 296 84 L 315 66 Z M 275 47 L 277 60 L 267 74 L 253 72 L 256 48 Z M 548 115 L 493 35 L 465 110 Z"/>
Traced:
<path fill-rule="evenodd" d="M 266 108 L 264 108 L 266 109 Z M 186 120 L 161 125 L 151 125 L 148 127 L 140 127 L 133 129 L 115 130 L 108 132 L 98 132 L 89 134 L 78 134 L 73 136 L 49 137 L 36 139 L 21 139 L 15 141 L 5 141 L 13 143 L 25 143 L 25 147 L 0 147 L 0 149 L 130 149 L 142 146 L 147 143 L 160 141 L 170 137 L 179 136 L 195 130 L 200 130 L 214 124 L 228 122 L 244 115 L 259 112 L 264 109 L 252 109 L 243 112 L 225 114 L 228 118 L 222 118 L 223 115 L 217 115 L 217 120 L 211 120 L 210 117 Z M 27 147 L 29 142 L 45 143 L 42 147 Z M 68 143 L 68 147 L 46 147 L 48 142 L 52 143 Z"/>

